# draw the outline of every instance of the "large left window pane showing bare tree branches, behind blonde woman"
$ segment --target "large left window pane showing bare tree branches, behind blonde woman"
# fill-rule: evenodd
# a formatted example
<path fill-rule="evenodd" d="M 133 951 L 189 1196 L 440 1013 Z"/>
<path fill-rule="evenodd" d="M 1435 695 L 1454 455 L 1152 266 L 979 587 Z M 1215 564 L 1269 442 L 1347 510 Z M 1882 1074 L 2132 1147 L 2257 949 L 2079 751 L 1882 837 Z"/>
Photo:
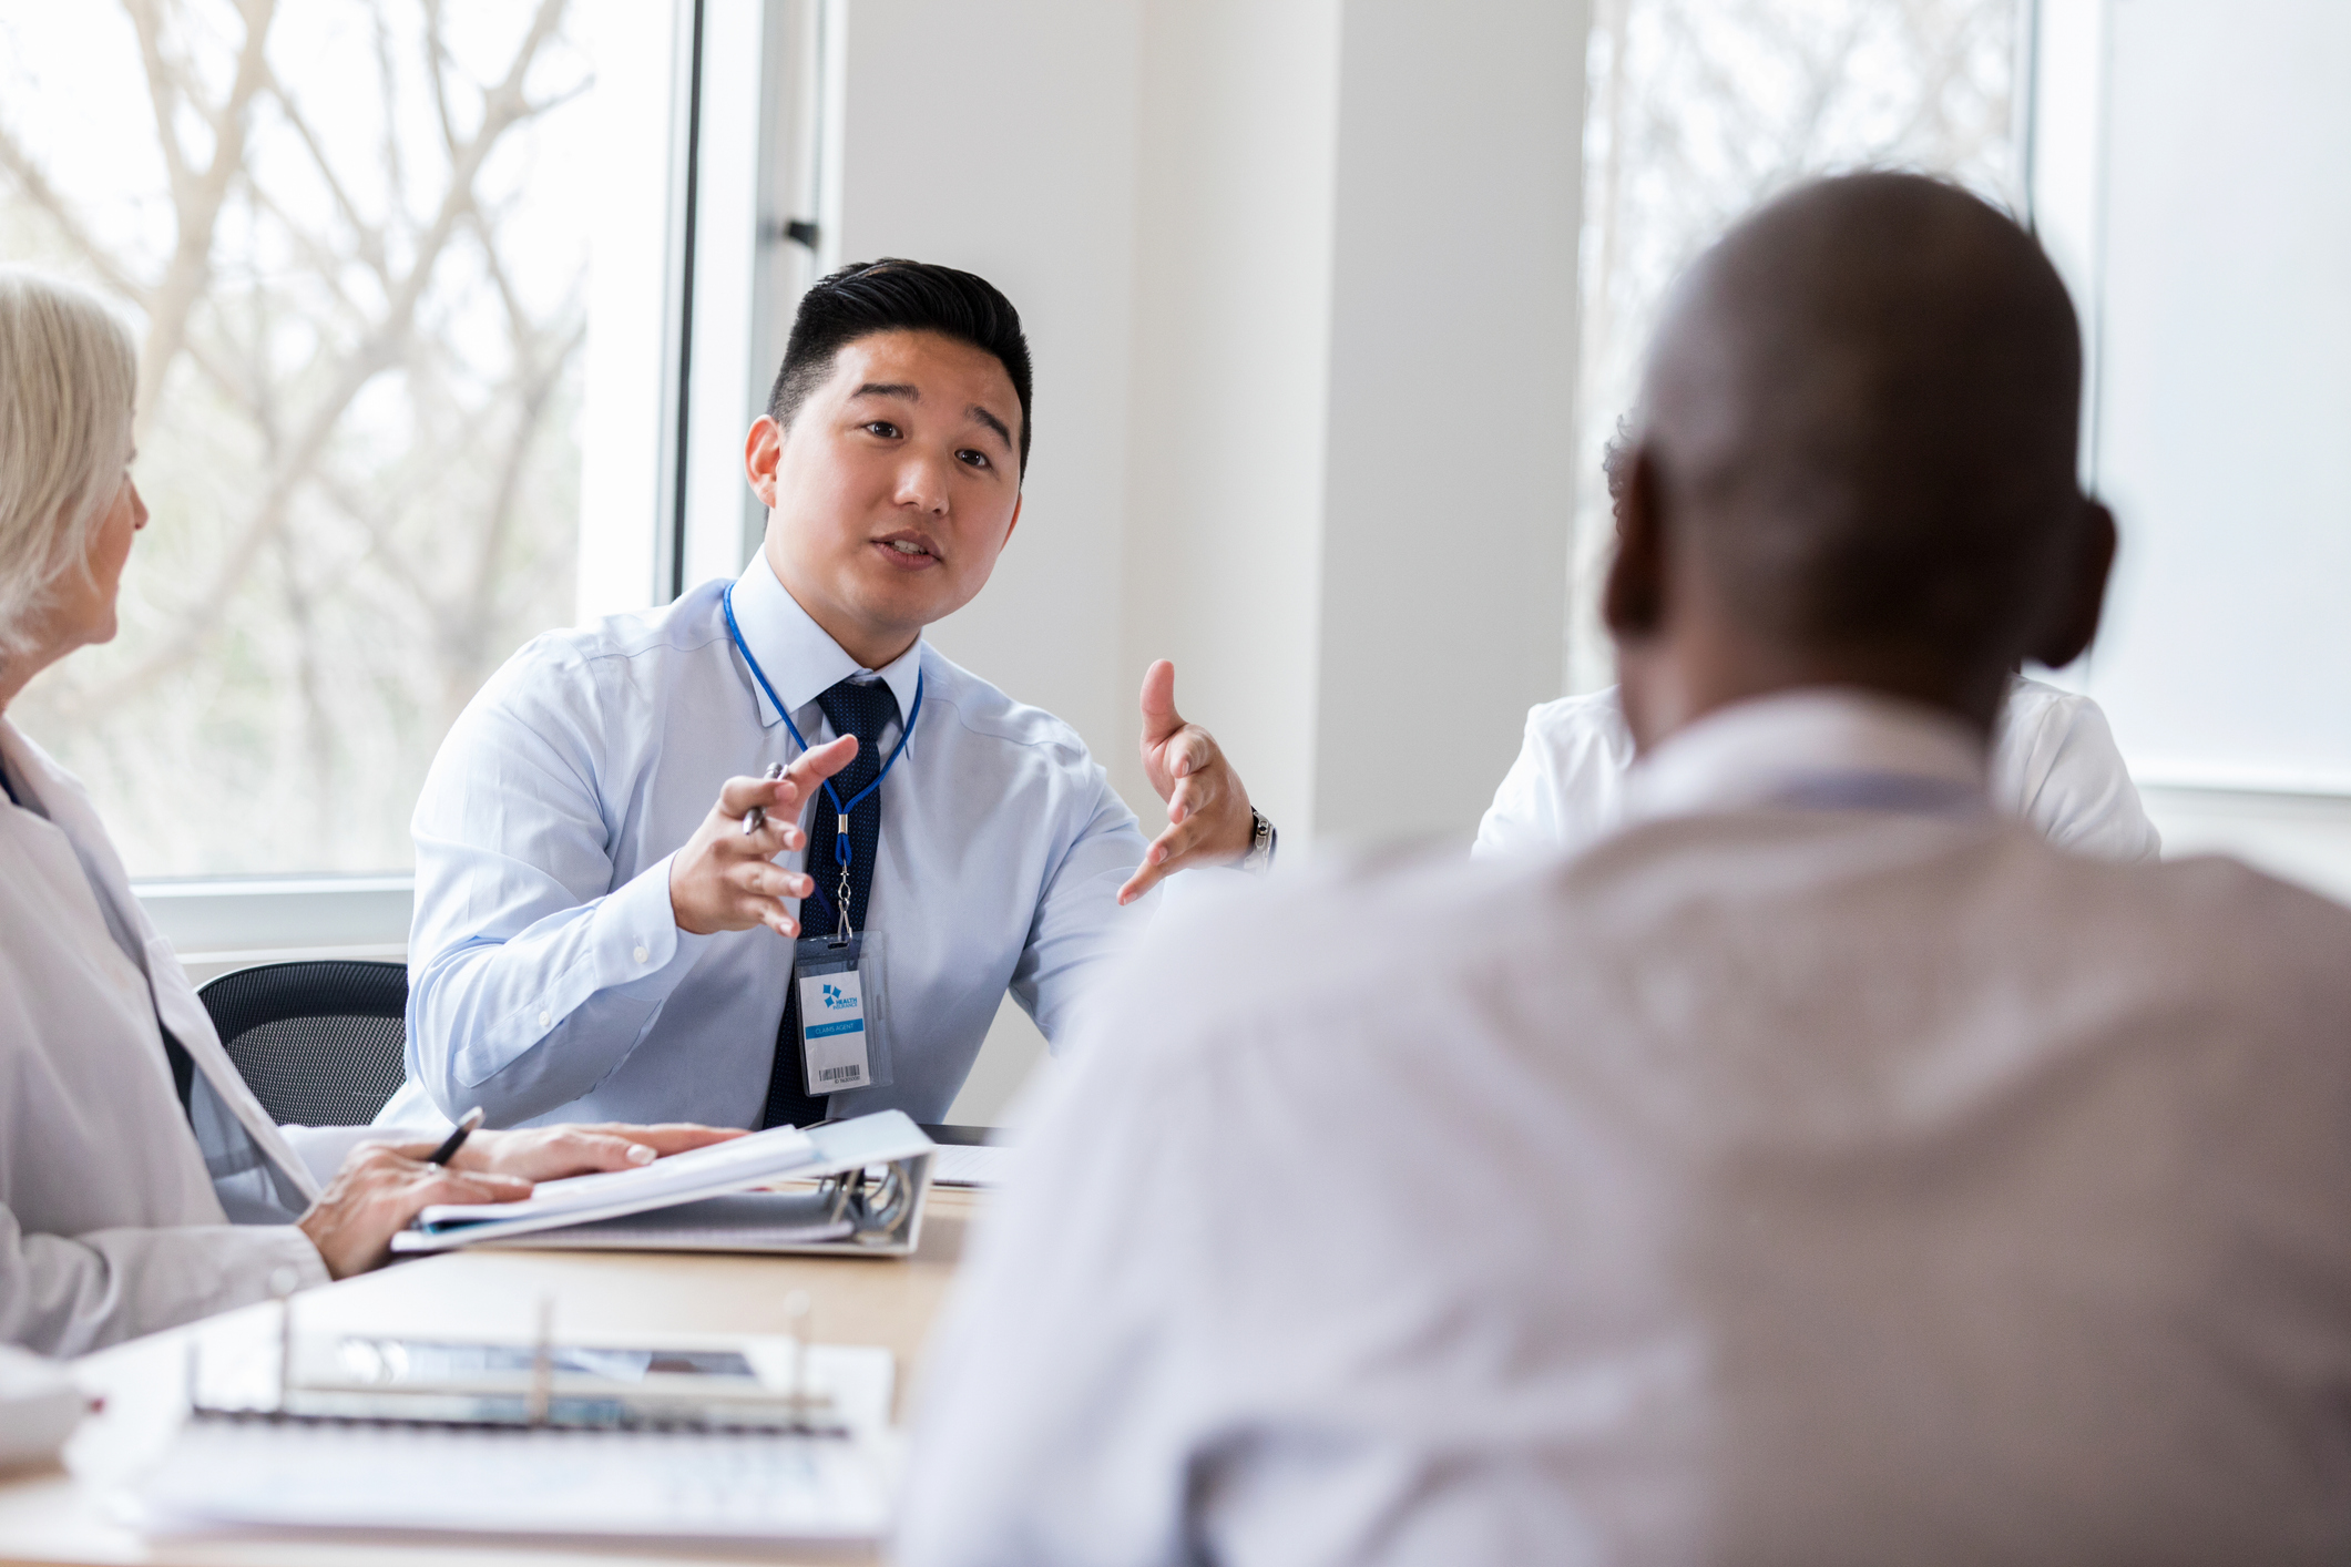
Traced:
<path fill-rule="evenodd" d="M 407 867 L 449 721 L 574 620 L 581 9 L 0 0 L 0 256 L 136 322 L 153 510 L 120 637 L 12 717 L 134 876 Z"/>

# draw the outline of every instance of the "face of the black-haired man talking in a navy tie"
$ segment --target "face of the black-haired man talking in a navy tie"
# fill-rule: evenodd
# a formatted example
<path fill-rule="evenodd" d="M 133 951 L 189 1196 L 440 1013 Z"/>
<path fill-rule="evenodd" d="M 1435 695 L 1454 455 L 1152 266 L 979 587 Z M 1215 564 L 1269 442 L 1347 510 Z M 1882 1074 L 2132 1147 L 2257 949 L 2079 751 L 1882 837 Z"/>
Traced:
<path fill-rule="evenodd" d="M 868 670 L 987 585 L 1020 519 L 1020 399 L 1004 362 L 933 331 L 879 331 L 832 359 L 790 430 L 743 449 L 766 559 Z"/>

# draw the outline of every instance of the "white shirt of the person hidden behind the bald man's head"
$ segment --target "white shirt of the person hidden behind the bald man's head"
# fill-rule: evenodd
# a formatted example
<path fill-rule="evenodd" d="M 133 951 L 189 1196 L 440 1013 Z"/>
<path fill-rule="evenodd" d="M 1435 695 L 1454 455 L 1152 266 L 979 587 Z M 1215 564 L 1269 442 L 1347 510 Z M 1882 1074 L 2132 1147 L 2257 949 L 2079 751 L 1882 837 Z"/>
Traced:
<path fill-rule="evenodd" d="M 1632 764 L 1615 686 L 1531 707 L 1526 742 L 1469 853 L 1582 848 L 1615 832 Z M 2059 848 L 2123 862 L 2154 860 L 2163 848 L 2106 714 L 2076 691 L 2010 679 L 1989 766 L 1991 803 Z"/>

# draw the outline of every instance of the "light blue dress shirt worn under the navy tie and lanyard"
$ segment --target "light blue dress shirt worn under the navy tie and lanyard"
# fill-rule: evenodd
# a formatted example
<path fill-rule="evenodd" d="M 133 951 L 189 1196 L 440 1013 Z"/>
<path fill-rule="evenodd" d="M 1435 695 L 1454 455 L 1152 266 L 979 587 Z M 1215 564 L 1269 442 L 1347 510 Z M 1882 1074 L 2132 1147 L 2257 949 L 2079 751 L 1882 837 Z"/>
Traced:
<path fill-rule="evenodd" d="M 726 634 L 724 587 L 538 637 L 449 731 L 416 801 L 409 1081 L 383 1123 L 475 1104 L 489 1125 L 757 1123 L 792 944 L 689 935 L 670 909 L 670 855 L 719 785 L 799 754 Z M 858 921 L 882 942 L 896 1078 L 832 1095 L 830 1114 L 943 1121 L 1006 989 L 1060 1038 L 1145 919 L 1152 900 L 1117 902 L 1143 832 L 1077 731 L 926 641 L 860 670 L 764 554 L 734 608 L 811 745 L 832 738 L 816 698 L 835 681 L 884 679 L 900 714 L 924 681 Z M 891 724 L 884 754 L 896 742 Z"/>

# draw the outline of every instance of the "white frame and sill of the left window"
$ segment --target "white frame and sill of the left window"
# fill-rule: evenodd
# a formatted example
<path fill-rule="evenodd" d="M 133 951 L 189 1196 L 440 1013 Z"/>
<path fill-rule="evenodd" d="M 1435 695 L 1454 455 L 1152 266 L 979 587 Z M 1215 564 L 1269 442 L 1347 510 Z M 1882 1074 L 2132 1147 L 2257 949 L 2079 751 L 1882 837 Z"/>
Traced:
<path fill-rule="evenodd" d="M 628 0 L 604 21 L 647 26 Z M 661 289 L 600 301 L 616 348 L 588 357 L 585 421 L 602 435 L 583 444 L 602 456 L 583 460 L 602 463 L 604 484 L 583 482 L 583 496 L 616 500 L 581 522 L 581 620 L 668 604 L 757 547 L 757 498 L 698 475 L 731 475 L 738 411 L 764 402 L 792 303 L 837 265 L 844 0 L 672 0 L 651 28 L 670 35 L 670 59 L 654 63 L 670 80 L 668 218 L 658 261 L 632 261 L 658 268 Z M 205 982 L 292 959 L 404 963 L 416 879 L 146 876 L 132 890 Z"/>

